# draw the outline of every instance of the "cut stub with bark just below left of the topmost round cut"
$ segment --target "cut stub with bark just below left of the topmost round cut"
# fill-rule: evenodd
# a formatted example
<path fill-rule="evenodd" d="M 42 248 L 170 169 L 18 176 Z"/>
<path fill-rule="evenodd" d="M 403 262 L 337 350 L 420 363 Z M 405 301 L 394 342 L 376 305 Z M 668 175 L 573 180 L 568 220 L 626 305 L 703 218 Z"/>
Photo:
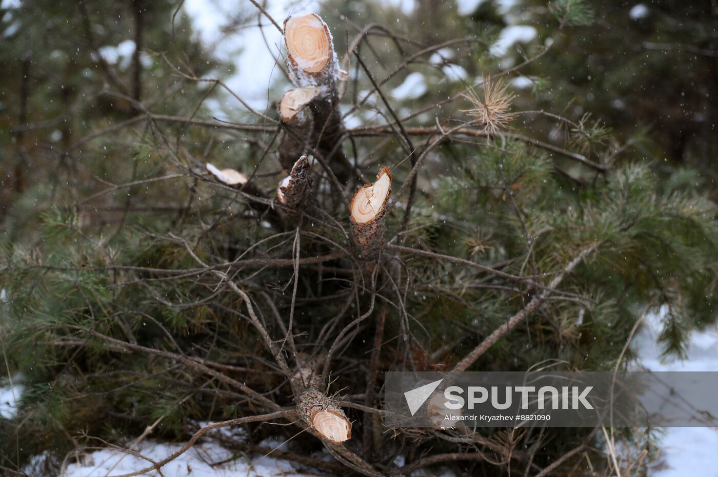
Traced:
<path fill-rule="evenodd" d="M 279 144 L 279 162 L 287 171 L 309 147 L 314 123 L 308 105 L 319 93 L 320 89 L 316 86 L 289 90 L 277 104 L 279 118 L 286 126 L 284 138 Z"/>

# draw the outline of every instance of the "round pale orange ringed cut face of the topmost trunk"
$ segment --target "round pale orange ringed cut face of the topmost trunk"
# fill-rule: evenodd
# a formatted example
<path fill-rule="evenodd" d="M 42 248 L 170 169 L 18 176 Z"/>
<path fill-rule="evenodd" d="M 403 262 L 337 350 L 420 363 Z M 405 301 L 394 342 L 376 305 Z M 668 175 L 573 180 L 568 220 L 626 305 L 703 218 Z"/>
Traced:
<path fill-rule="evenodd" d="M 289 58 L 309 74 L 322 72 L 332 59 L 332 37 L 317 14 L 290 16 L 284 24 Z"/>

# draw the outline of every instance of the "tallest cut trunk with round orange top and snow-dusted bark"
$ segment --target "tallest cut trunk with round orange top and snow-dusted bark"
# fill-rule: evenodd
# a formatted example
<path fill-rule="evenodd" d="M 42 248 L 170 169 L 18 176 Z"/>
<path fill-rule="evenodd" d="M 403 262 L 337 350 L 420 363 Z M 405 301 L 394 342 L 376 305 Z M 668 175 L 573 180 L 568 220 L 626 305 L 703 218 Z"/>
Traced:
<path fill-rule="evenodd" d="M 317 14 L 299 14 L 284 20 L 286 65 L 298 88 L 314 86 L 319 93 L 312 99 L 312 146 L 322 154 L 340 181 L 351 177 L 351 164 L 337 146 L 344 132 L 339 112 L 337 80 L 347 79 L 339 67 L 332 34 Z"/>

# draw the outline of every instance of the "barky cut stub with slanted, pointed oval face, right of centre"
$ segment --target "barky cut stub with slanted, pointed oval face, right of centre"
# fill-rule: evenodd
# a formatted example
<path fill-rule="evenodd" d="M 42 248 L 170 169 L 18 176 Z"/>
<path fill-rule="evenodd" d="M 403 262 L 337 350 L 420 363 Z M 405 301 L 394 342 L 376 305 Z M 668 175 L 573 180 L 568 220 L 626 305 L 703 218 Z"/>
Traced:
<path fill-rule="evenodd" d="M 376 182 L 361 186 L 350 205 L 352 247 L 357 258 L 373 268 L 384 245 L 386 204 L 391 194 L 391 172 L 383 166 Z"/>

